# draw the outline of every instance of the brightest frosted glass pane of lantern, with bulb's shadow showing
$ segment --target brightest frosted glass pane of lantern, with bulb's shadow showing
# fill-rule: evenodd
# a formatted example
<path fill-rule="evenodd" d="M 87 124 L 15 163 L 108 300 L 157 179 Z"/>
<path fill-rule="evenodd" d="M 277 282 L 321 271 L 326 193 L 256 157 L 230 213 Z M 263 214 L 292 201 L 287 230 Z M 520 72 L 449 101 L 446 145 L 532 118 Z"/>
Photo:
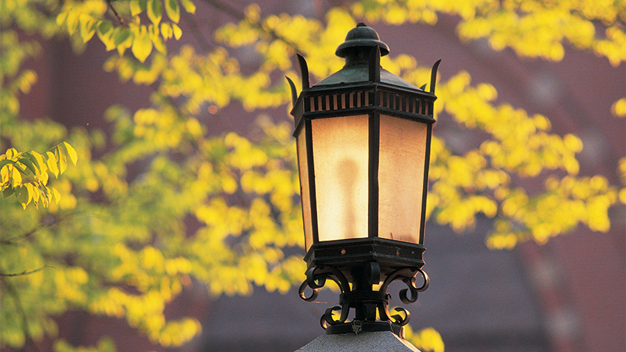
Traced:
<path fill-rule="evenodd" d="M 368 116 L 312 120 L 319 240 L 367 237 Z"/>

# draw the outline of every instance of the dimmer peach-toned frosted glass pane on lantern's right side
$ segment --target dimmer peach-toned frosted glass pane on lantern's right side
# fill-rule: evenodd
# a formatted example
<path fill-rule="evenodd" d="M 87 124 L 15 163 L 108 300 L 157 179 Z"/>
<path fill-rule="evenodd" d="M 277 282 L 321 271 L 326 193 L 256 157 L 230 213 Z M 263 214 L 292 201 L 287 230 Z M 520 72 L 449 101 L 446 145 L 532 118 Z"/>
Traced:
<path fill-rule="evenodd" d="M 419 243 L 427 127 L 380 116 L 378 237 Z"/>

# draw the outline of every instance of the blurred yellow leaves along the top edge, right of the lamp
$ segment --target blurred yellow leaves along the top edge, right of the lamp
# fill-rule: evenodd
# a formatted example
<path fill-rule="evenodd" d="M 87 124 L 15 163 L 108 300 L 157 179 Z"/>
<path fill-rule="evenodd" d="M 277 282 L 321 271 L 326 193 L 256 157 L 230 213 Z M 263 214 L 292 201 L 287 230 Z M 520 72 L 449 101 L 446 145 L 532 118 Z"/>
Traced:
<path fill-rule="evenodd" d="M 611 65 L 626 60 L 623 1 L 359 1 L 351 8 L 358 17 L 391 24 L 435 24 L 438 13 L 460 17 L 459 38 L 486 38 L 495 50 L 510 47 L 518 56 L 561 61 L 563 45 L 592 50 Z"/>

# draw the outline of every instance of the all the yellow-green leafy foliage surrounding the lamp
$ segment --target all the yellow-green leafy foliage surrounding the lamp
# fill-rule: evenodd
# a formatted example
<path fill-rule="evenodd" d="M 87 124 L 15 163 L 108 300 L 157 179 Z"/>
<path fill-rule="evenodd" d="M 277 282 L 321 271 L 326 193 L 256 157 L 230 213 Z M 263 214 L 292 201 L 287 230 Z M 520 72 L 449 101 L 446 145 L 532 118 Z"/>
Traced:
<path fill-rule="evenodd" d="M 200 323 L 166 319 L 163 310 L 186 287 L 250 294 L 254 285 L 286 292 L 300 282 L 301 255 L 287 255 L 303 246 L 291 127 L 261 115 L 252 136 L 216 136 L 200 120 L 233 102 L 247 111 L 286 106 L 289 88 L 274 78 L 298 77 L 290 60 L 296 51 L 316 79 L 339 70 L 342 60 L 333 53 L 354 17 L 434 24 L 438 14 L 451 14 L 460 18 L 461 39 L 487 38 L 493 48 L 511 47 L 522 57 L 559 61 L 563 45 L 572 45 L 612 65 L 625 60 L 626 11 L 619 1 L 363 0 L 332 8 L 323 20 L 262 15 L 251 5 L 241 13 L 230 9 L 239 21 L 214 33 L 217 45 L 174 52 L 167 40 L 181 38 L 179 21 L 195 13 L 191 0 L 6 0 L 0 6 L 0 118 L 8 150 L 0 157 L 2 190 L 18 200 L 0 205 L 0 340 L 14 348 L 44 335 L 56 339 L 52 318 L 67 310 L 125 319 L 152 342 L 179 346 L 199 333 Z M 509 25 L 512 18 L 520 25 Z M 110 135 L 19 118 L 20 99 L 37 80 L 24 68 L 41 51 L 34 35 L 67 35 L 78 50 L 93 40 L 115 49 L 104 70 L 154 88 L 152 104 L 137 111 L 111 106 Z M 257 70 L 241 69 L 237 49 L 259 57 Z M 430 74 L 403 54 L 383 58 L 383 66 L 417 86 Z M 626 202 L 626 191 L 600 175 L 577 175 L 583 147 L 577 136 L 551 133 L 543 115 L 496 104 L 495 88 L 472 83 L 467 72 L 438 83 L 438 96 L 436 113 L 486 137 L 463 154 L 433 138 L 427 207 L 435 221 L 463 231 L 477 216 L 493 218 L 486 238 L 492 248 L 545 243 L 579 224 L 609 229 L 608 210 Z M 611 109 L 625 115 L 626 100 Z M 77 166 L 65 170 L 68 158 Z M 63 171 L 48 183 L 48 173 Z M 520 179 L 543 187 L 531 192 Z M 27 208 L 30 202 L 47 209 Z M 434 330 L 408 337 L 424 351 L 443 350 Z M 56 339 L 54 348 L 115 346 L 104 337 L 84 349 Z"/>

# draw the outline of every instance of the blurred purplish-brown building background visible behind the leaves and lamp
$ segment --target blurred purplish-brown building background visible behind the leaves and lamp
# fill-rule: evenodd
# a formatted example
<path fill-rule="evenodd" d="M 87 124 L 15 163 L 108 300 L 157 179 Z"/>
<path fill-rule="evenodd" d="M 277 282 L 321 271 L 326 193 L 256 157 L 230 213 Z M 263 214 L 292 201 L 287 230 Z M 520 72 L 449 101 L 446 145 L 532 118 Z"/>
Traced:
<path fill-rule="evenodd" d="M 259 5 L 264 14 L 323 18 L 328 8 L 340 2 L 266 0 Z M 224 3 L 239 10 L 248 5 L 234 0 Z M 211 33 L 237 19 L 211 1 L 197 5 L 197 30 L 214 45 Z M 188 23 L 181 23 L 183 32 L 191 33 Z M 426 67 L 441 58 L 442 80 L 466 70 L 473 83 L 495 86 L 497 103 L 543 114 L 552 122 L 553 133 L 579 136 L 584 143 L 580 175 L 600 174 L 611 184 L 620 184 L 615 166 L 625 155 L 625 120 L 613 117 L 610 107 L 626 92 L 624 63 L 613 67 L 606 58 L 568 47 L 557 63 L 518 58 L 510 49 L 490 49 L 486 41 L 458 40 L 457 23 L 458 18 L 441 15 L 434 26 L 369 25 L 390 46 L 391 56 L 410 54 Z M 338 45 L 344 38 L 336 40 Z M 173 45 L 184 43 L 202 45 L 193 35 L 184 35 Z M 150 106 L 151 88 L 122 83 L 117 74 L 102 70 L 110 53 L 97 40 L 89 42 L 80 55 L 74 54 L 68 42 L 44 45 L 43 54 L 29 62 L 39 81 L 29 101 L 22 104 L 24 118 L 47 115 L 67 126 L 106 129 L 103 115 L 111 104 L 131 111 Z M 243 50 L 240 55 L 241 65 L 257 65 L 253 55 Z M 291 121 L 287 111 L 283 106 L 264 113 L 276 121 Z M 232 130 L 246 135 L 257 113 L 230 104 L 212 116 L 212 132 Z M 459 129 L 444 113 L 435 118 L 434 134 L 456 150 L 476 145 L 480 138 Z M 543 246 L 527 242 L 513 250 L 485 246 L 485 234 L 492 226 L 488 218 L 479 219 L 471 232 L 460 234 L 428 222 L 424 269 L 431 285 L 419 294 L 417 303 L 407 307 L 412 312 L 412 328 L 438 330 L 447 352 L 626 351 L 625 207 L 613 207 L 610 216 L 607 233 L 580 226 Z M 396 291 L 392 296 L 393 303 Z M 337 299 L 337 294 L 326 291 L 319 302 L 305 303 L 295 289 L 282 295 L 262 287 L 255 287 L 251 296 L 211 297 L 196 287 L 184 290 L 166 307 L 172 316 L 191 315 L 202 323 L 202 335 L 180 348 L 154 346 L 124 321 L 84 312 L 60 317 L 59 335 L 80 345 L 108 333 L 115 337 L 118 351 L 295 351 L 323 334 L 319 317 Z"/>

